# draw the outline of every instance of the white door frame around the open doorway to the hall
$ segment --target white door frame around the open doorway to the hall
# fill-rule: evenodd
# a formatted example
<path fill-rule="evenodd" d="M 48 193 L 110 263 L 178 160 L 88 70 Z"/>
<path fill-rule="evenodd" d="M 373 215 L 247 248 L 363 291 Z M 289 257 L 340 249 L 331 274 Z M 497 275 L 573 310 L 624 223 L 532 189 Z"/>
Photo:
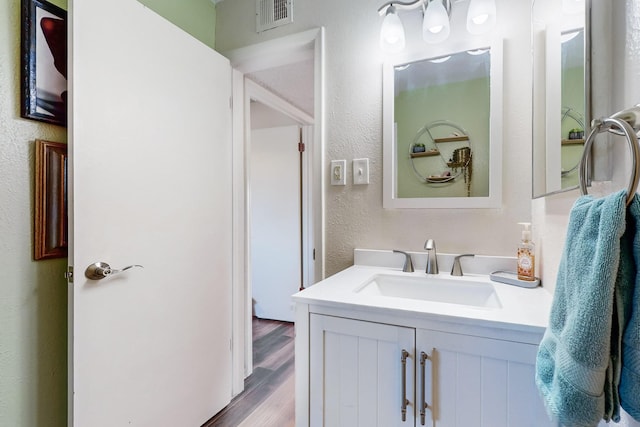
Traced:
<path fill-rule="evenodd" d="M 244 390 L 253 371 L 251 342 L 251 292 L 249 258 L 248 155 L 250 153 L 249 102 L 259 100 L 312 128 L 303 130 L 310 142 L 303 164 L 303 277 L 305 285 L 324 278 L 324 28 L 269 40 L 226 52 L 231 61 L 233 108 L 233 315 L 232 394 Z M 276 101 L 269 91 L 245 79 L 245 74 L 314 59 L 314 114 L 300 115 L 286 101 Z M 250 82 L 250 83 L 247 83 Z M 298 111 L 295 111 L 298 110 Z M 304 128 L 303 128 L 304 129 Z"/>

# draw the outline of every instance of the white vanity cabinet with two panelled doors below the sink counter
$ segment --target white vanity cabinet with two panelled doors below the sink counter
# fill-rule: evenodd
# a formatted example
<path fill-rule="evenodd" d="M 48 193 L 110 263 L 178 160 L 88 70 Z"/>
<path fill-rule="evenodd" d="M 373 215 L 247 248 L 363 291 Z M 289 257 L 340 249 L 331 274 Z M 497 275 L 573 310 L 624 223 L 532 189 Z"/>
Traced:
<path fill-rule="evenodd" d="M 432 322 L 434 329 L 424 321 L 413 327 L 408 319 L 392 325 L 391 317 L 360 320 L 313 313 L 306 305 L 301 311 L 297 427 L 553 425 L 535 386 L 537 345 L 531 339 L 482 336 L 483 328 L 437 330 L 439 322 Z"/>

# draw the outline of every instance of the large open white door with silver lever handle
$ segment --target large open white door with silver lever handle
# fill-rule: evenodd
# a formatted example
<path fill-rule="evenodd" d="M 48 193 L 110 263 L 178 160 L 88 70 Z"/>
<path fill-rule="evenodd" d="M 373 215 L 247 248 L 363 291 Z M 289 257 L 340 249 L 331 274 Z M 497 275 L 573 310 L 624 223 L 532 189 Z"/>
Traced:
<path fill-rule="evenodd" d="M 199 426 L 231 397 L 231 69 L 135 0 L 69 3 L 70 425 Z"/>

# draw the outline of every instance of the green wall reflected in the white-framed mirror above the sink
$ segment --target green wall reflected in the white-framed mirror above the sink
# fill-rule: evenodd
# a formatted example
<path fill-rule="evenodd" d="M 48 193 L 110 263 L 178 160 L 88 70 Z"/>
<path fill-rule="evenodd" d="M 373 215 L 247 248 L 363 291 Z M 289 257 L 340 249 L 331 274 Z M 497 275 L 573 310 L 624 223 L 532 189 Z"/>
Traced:
<path fill-rule="evenodd" d="M 428 100 L 428 103 L 427 101 Z M 425 108 L 428 105 L 428 108 Z M 395 100 L 397 123 L 397 196 L 466 197 L 467 184 L 461 177 L 448 184 L 425 184 L 416 176 L 409 156 L 410 146 L 418 131 L 428 123 L 449 120 L 464 128 L 471 138 L 473 153 L 471 195 L 489 195 L 489 78 L 467 80 L 400 92 Z M 455 128 L 438 127 L 433 137 L 449 136 Z M 435 146 L 426 134 L 420 139 L 427 149 Z M 441 174 L 448 168 L 445 162 L 455 148 L 467 142 L 438 144 L 440 156 L 413 159 L 413 165 L 423 177 Z"/>

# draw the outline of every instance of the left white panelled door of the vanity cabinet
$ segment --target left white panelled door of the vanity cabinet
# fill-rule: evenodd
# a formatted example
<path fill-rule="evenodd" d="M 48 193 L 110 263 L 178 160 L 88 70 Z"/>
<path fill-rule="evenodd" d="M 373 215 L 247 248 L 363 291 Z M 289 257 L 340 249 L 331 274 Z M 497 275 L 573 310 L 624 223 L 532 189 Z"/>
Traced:
<path fill-rule="evenodd" d="M 309 326 L 310 426 L 414 425 L 413 328 L 313 314 Z"/>

